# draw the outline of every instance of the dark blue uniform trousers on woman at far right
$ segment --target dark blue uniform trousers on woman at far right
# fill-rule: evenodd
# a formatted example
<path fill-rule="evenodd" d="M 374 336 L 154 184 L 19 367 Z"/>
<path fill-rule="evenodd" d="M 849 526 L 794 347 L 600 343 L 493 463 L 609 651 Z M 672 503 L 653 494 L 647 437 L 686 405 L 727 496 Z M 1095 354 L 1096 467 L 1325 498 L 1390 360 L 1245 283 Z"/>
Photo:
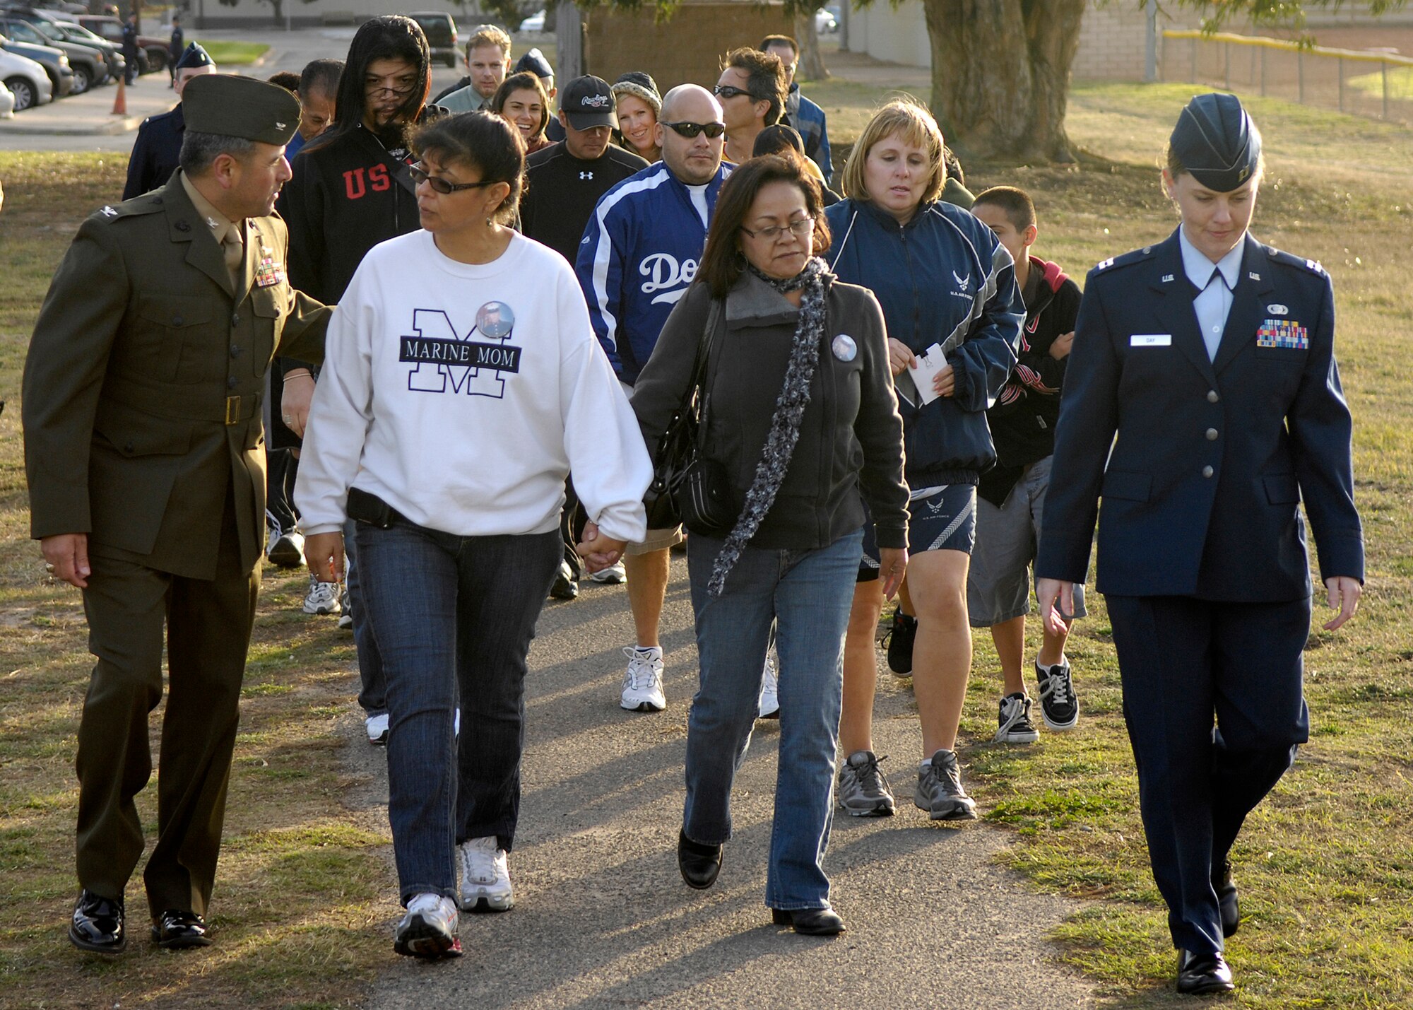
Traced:
<path fill-rule="evenodd" d="M 1214 867 L 1310 738 L 1301 693 L 1310 598 L 1106 601 L 1143 830 L 1173 945 L 1221 951 Z"/>

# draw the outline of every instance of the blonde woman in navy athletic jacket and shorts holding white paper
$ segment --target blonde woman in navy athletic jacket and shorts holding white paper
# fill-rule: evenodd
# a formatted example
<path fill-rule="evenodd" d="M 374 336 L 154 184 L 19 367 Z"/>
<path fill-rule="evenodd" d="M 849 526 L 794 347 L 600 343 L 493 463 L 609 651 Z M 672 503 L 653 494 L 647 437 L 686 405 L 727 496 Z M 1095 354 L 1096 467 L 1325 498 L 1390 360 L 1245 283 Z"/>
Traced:
<path fill-rule="evenodd" d="M 996 461 L 986 409 L 1016 364 L 1026 318 L 1010 253 L 981 221 L 938 201 L 947 170 L 942 133 L 927 109 L 890 102 L 865 127 L 844 170 L 844 199 L 825 211 L 841 280 L 872 289 L 887 323 L 890 368 L 903 414 L 909 505 L 907 584 L 918 618 L 913 686 L 923 724 L 923 764 L 913 802 L 933 819 L 976 816 L 954 753 L 971 625 L 966 570 L 976 481 Z M 910 368 L 945 362 L 935 378 Z M 931 386 L 924 396 L 918 382 Z M 937 393 L 933 399 L 933 393 Z M 924 399 L 927 402 L 924 402 Z M 865 539 L 844 668 L 839 726 L 848 755 L 839 803 L 853 815 L 893 812 L 870 740 L 873 628 L 883 596 L 877 552 Z"/>

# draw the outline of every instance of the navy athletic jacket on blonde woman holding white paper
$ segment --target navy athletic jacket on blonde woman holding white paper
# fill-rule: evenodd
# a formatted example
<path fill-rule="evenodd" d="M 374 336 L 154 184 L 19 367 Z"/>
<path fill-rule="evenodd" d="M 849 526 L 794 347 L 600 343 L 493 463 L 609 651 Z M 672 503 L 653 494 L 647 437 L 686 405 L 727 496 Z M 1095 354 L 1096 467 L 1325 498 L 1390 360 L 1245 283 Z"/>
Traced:
<path fill-rule="evenodd" d="M 824 215 L 839 280 L 872 289 L 887 335 L 914 354 L 941 344 L 957 375 L 952 396 L 926 406 L 899 376 L 907 482 L 975 484 L 996 463 L 986 410 L 1016 365 L 1026 318 L 1010 253 L 951 204 L 923 205 L 901 226 L 868 201 L 842 199 Z"/>

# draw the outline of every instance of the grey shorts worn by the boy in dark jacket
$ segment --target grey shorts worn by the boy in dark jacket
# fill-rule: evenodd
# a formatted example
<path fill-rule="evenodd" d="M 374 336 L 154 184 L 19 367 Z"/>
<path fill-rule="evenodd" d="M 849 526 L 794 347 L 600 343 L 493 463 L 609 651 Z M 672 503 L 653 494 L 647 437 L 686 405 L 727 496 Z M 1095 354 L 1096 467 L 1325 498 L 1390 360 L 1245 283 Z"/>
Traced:
<path fill-rule="evenodd" d="M 1000 508 L 976 499 L 976 549 L 966 576 L 966 613 L 974 628 L 1030 613 L 1030 569 L 1040 545 L 1051 458 L 1026 467 Z M 1074 587 L 1074 615 L 1085 615 L 1080 584 Z"/>

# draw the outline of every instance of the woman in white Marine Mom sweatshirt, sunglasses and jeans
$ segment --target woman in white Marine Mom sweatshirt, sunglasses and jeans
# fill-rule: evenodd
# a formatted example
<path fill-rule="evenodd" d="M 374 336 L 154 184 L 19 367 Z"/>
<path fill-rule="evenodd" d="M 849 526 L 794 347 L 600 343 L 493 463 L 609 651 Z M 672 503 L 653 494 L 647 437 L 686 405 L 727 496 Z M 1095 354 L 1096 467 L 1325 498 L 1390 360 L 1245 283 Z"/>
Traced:
<path fill-rule="evenodd" d="M 514 129 L 465 113 L 417 144 L 425 231 L 374 246 L 339 303 L 295 501 L 321 579 L 339 574 L 339 530 L 357 521 L 387 673 L 407 907 L 394 949 L 439 958 L 461 953 L 458 897 L 513 904 L 526 654 L 560 564 L 565 475 L 601 567 L 646 533 L 651 463 L 572 269 L 507 228 L 524 177 Z"/>

